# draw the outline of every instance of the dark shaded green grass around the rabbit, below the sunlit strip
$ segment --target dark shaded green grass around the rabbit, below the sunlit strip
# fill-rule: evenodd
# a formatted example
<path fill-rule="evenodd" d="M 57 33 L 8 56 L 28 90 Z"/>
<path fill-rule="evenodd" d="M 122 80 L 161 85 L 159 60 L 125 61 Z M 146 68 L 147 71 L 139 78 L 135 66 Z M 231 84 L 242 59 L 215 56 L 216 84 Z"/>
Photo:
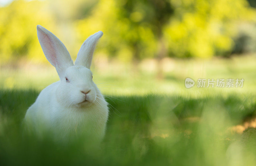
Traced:
<path fill-rule="evenodd" d="M 24 136 L 20 124 L 38 91 L 0 90 L 1 165 L 214 165 L 227 163 L 228 126 L 255 114 L 255 97 L 113 96 L 104 141 L 58 144 Z M 207 147 L 207 148 L 206 148 Z M 218 151 L 219 153 L 214 153 Z"/>

